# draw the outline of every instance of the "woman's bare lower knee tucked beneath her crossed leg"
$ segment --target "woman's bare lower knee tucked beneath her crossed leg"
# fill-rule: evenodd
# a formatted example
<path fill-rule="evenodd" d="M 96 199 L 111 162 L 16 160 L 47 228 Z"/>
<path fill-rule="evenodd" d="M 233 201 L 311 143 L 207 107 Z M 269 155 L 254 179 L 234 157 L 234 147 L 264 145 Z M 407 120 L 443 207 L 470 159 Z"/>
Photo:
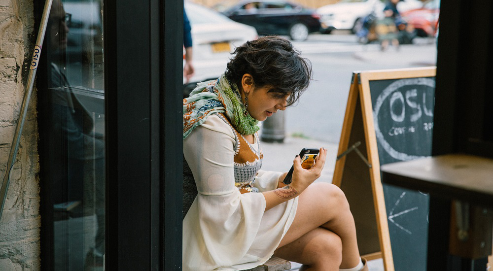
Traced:
<path fill-rule="evenodd" d="M 307 271 L 338 271 L 342 261 L 341 237 L 318 227 L 278 248 L 274 255 L 303 264 Z"/>

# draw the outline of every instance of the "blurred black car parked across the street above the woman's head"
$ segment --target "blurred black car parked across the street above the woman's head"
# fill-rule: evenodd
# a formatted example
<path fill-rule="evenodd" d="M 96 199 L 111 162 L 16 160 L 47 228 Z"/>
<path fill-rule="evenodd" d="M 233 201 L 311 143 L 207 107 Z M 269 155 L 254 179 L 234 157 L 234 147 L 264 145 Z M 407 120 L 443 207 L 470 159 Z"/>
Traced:
<path fill-rule="evenodd" d="M 254 27 L 260 35 L 289 35 L 292 40 L 305 40 L 308 34 L 320 30 L 320 17 L 314 9 L 283 0 L 227 0 L 213 8 Z"/>

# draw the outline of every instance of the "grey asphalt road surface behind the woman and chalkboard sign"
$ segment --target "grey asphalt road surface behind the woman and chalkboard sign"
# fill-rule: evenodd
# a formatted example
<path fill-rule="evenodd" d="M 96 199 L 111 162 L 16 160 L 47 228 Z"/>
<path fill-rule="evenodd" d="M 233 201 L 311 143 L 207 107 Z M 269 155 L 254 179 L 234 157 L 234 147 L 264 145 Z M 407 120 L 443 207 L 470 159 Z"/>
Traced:
<path fill-rule="evenodd" d="M 312 34 L 306 41 L 293 42 L 311 61 L 314 80 L 286 109 L 286 134 L 339 142 L 352 72 L 434 66 L 434 40 L 415 40 L 417 44 L 401 45 L 398 51 L 389 46 L 385 52 L 378 44 L 359 44 L 349 34 Z"/>

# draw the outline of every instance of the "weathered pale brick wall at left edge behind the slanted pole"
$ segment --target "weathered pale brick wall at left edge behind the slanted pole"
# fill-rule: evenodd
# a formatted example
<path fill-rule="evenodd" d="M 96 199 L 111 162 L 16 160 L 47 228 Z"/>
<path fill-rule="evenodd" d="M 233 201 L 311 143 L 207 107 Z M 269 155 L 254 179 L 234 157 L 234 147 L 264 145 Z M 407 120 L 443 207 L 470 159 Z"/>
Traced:
<path fill-rule="evenodd" d="M 0 182 L 22 104 L 35 42 L 33 0 L 0 0 Z M 0 270 L 39 270 L 35 90 L 0 220 Z"/>

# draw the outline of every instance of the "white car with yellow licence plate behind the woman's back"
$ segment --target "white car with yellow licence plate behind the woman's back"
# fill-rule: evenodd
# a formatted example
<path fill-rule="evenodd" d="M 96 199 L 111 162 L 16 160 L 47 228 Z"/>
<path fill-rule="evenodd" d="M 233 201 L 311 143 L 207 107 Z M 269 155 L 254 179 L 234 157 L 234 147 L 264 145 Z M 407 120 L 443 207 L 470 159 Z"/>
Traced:
<path fill-rule="evenodd" d="M 205 6 L 186 2 L 185 11 L 192 27 L 195 68 L 188 84 L 183 77 L 183 96 L 188 97 L 198 82 L 217 79 L 226 70 L 235 47 L 258 35 L 255 28 L 232 21 Z"/>

